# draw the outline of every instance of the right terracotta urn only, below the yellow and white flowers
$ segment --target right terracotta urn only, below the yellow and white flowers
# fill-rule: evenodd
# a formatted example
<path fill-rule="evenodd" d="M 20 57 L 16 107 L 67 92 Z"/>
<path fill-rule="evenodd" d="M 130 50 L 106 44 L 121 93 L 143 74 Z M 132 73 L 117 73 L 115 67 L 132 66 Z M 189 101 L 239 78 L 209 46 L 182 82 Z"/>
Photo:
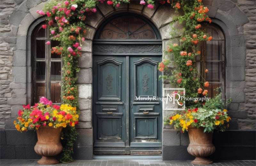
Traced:
<path fill-rule="evenodd" d="M 215 151 L 212 144 L 212 132 L 204 132 L 204 128 L 188 127 L 188 153 L 195 156 L 195 160 L 191 161 L 192 164 L 212 164 L 213 161 L 208 159 L 207 156 Z"/>

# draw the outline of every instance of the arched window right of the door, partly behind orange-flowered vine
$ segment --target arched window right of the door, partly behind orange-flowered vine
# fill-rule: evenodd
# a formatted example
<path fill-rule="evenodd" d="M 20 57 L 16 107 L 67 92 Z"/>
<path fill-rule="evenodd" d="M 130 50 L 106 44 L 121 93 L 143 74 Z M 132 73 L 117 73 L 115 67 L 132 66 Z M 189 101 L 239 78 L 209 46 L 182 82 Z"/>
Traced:
<path fill-rule="evenodd" d="M 205 41 L 201 46 L 202 59 L 200 68 L 203 78 L 209 82 L 208 96 L 214 97 L 214 89 L 221 87 L 225 96 L 225 38 L 221 29 L 214 24 L 203 24 L 203 30 L 212 36 L 211 41 Z M 205 69 L 208 72 L 205 72 Z"/>

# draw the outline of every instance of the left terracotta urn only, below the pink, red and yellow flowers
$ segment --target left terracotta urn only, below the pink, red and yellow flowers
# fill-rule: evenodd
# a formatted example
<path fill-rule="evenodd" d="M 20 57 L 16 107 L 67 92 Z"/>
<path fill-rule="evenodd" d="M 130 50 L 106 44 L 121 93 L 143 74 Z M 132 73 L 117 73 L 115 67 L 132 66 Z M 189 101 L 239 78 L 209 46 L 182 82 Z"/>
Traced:
<path fill-rule="evenodd" d="M 60 154 L 63 147 L 60 143 L 60 133 L 63 127 L 40 126 L 36 130 L 37 142 L 34 147 L 36 153 L 42 158 L 37 161 L 38 164 L 57 164 L 59 161 L 53 156 Z"/>

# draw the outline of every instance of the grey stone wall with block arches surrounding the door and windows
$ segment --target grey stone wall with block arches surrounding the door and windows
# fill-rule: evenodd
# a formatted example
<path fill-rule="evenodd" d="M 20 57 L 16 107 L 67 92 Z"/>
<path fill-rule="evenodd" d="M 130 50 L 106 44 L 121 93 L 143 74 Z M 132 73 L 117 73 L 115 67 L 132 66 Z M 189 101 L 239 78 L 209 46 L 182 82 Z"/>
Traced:
<path fill-rule="evenodd" d="M 44 20 L 39 18 L 36 11 L 42 10 L 45 2 L 46 0 L 2 0 L 0 4 L 0 156 L 4 159 L 39 158 L 32 150 L 36 142 L 35 133 L 17 132 L 13 121 L 23 104 L 33 104 L 30 103 L 32 70 L 29 39 L 33 26 Z M 255 130 L 256 2 L 254 0 L 204 0 L 203 2 L 210 10 L 208 15 L 212 18 L 212 22 L 220 26 L 226 37 L 226 96 L 233 99 L 228 108 L 232 118 L 230 129 L 234 132 L 237 129 Z M 77 84 L 81 113 L 77 126 L 79 136 L 74 147 L 76 159 L 92 159 L 93 156 L 92 40 L 100 24 L 114 14 L 137 13 L 147 17 L 158 27 L 162 35 L 163 48 L 166 48 L 169 42 L 179 42 L 175 38 L 177 36 L 168 33 L 172 28 L 169 23 L 174 16 L 174 10 L 170 5 L 160 5 L 156 2 L 154 9 L 148 9 L 140 5 L 139 1 L 131 1 L 130 4 L 123 4 L 118 8 L 106 3 L 100 4 L 97 10 L 99 12 L 86 19 L 85 23 L 89 30 L 79 59 L 81 70 L 78 73 Z M 174 27 L 182 26 L 175 23 Z M 163 116 L 170 113 L 171 111 L 163 111 Z M 162 130 L 163 159 L 191 159 L 191 156 L 186 154 L 188 135 L 180 134 L 168 126 L 163 126 Z M 218 141 L 216 142 L 218 144 Z M 249 147 L 253 149 L 255 145 L 250 144 Z M 24 149 L 26 153 L 21 153 Z M 177 155 L 179 151 L 184 152 L 183 158 Z"/>

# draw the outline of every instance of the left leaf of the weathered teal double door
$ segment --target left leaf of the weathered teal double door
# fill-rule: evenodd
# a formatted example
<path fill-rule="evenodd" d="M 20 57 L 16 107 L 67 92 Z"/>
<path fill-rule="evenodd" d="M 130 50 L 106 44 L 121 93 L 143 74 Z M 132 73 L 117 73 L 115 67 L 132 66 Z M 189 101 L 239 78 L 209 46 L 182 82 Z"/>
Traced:
<path fill-rule="evenodd" d="M 125 154 L 124 64 L 125 57 L 94 57 L 94 154 Z"/>

